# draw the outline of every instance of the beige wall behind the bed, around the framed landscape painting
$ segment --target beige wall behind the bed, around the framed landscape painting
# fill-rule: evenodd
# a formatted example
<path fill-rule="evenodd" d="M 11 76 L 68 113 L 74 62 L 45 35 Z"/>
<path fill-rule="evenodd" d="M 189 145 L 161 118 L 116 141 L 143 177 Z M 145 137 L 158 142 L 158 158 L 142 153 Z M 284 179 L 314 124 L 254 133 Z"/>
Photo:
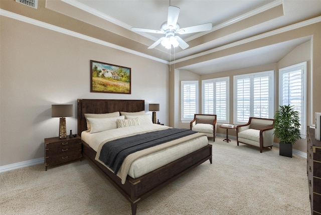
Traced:
<path fill-rule="evenodd" d="M 159 103 L 157 119 L 169 124 L 166 64 L 1 17 L 0 165 L 44 156 L 44 138 L 58 136 L 51 104 L 74 105 L 67 133 L 77 131 L 77 98 L 145 99 Z M 91 93 L 90 60 L 131 68 L 131 94 Z"/>

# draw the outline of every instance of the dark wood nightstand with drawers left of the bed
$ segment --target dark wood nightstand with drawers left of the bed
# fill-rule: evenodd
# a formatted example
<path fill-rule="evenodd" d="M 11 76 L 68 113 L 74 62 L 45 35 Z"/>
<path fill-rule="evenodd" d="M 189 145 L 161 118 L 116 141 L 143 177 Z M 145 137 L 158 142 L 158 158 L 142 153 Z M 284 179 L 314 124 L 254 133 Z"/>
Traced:
<path fill-rule="evenodd" d="M 45 138 L 45 167 L 53 166 L 68 161 L 80 159 L 81 161 L 81 138 L 59 139 L 58 137 Z"/>

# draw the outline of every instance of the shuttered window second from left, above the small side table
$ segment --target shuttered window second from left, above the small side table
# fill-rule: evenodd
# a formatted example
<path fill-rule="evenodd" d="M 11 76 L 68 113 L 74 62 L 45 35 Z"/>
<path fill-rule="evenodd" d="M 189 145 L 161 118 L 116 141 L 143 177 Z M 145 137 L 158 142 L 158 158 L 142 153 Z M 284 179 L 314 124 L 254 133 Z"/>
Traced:
<path fill-rule="evenodd" d="M 229 77 L 202 81 L 202 113 L 216 114 L 217 122 L 229 123 Z"/>

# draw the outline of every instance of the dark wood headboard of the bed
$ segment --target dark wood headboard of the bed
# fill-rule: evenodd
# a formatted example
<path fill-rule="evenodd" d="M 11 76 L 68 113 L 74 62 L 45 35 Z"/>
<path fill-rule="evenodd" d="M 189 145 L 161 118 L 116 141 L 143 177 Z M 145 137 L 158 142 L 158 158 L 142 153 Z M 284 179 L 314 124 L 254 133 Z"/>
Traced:
<path fill-rule="evenodd" d="M 106 114 L 117 111 L 138 112 L 145 110 L 145 100 L 118 99 L 78 99 L 77 121 L 78 135 L 87 130 L 84 114 Z"/>

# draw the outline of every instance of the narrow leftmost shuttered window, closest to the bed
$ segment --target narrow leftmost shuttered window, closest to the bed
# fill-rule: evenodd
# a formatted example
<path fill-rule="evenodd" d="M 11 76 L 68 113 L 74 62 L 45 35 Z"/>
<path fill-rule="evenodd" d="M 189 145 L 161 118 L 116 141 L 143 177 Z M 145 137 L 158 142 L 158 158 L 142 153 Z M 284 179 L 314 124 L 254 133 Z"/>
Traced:
<path fill-rule="evenodd" d="M 181 121 L 192 121 L 198 114 L 198 81 L 181 81 Z"/>

